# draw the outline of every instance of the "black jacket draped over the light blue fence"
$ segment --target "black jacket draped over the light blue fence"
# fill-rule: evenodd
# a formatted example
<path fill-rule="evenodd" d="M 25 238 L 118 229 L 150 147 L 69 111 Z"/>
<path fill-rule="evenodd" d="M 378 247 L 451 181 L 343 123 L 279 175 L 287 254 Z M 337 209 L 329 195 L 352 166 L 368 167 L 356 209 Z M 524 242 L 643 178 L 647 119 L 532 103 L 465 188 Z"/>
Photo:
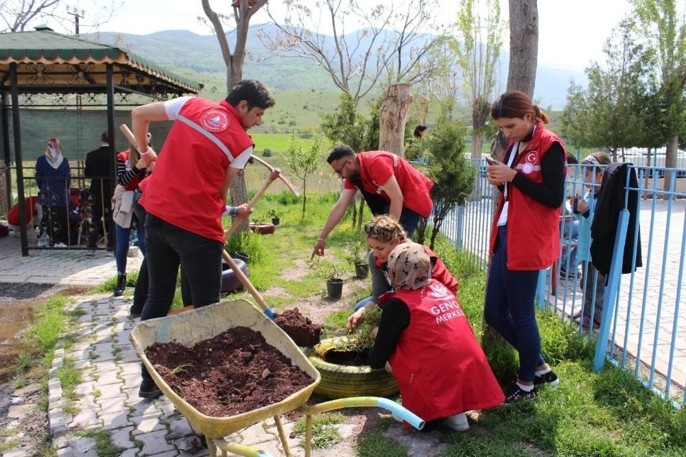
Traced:
<path fill-rule="evenodd" d="M 612 251 L 615 247 L 615 237 L 617 236 L 617 224 L 619 222 L 619 211 L 624 209 L 624 187 L 637 189 L 639 184 L 636 178 L 636 170 L 630 167 L 632 163 L 613 162 L 608 165 L 602 177 L 598 202 L 595 204 L 593 212 L 593 223 L 591 224 L 591 259 L 593 266 L 605 277 L 610 272 L 612 265 Z M 638 191 L 628 191 L 629 226 L 626 232 L 626 242 L 624 244 L 624 257 L 622 258 L 622 274 L 636 271 L 636 268 L 643 266 L 641 259 L 641 231 L 636 224 L 638 214 Z M 636 263 L 632 264 L 634 242 L 636 244 Z"/>

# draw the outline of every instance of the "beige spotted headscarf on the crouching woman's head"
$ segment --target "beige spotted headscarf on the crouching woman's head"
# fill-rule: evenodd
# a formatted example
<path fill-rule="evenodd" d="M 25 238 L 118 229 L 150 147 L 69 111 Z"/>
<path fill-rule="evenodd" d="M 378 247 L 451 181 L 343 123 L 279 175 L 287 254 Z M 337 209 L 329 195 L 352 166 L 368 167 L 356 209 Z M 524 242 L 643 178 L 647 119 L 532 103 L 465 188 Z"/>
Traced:
<path fill-rule="evenodd" d="M 401 243 L 388 256 L 388 274 L 396 289 L 415 290 L 431 283 L 431 259 L 424 246 Z"/>

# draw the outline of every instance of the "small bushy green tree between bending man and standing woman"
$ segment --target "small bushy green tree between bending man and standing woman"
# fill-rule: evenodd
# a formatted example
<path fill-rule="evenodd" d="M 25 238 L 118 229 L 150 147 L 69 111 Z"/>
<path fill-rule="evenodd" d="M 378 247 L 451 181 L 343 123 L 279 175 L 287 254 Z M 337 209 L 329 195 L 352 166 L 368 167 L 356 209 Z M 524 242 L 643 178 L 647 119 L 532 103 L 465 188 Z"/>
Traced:
<path fill-rule="evenodd" d="M 443 110 L 436 124 L 428 130 L 421 146 L 429 161 L 427 176 L 434 181 L 431 200 L 434 202 L 431 244 L 434 248 L 446 216 L 464 204 L 474 187 L 475 169 L 464 156 L 467 128 L 464 121 L 451 121 Z M 419 230 L 418 233 L 423 233 Z"/>

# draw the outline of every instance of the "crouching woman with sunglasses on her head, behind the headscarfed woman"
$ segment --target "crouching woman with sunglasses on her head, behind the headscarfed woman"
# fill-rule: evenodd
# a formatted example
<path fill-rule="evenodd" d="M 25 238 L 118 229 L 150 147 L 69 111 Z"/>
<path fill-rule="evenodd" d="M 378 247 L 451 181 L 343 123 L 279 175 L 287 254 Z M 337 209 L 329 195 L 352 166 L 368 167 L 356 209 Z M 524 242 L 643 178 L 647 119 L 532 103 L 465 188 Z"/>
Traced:
<path fill-rule="evenodd" d="M 372 275 L 372 294 L 362 298 L 355 305 L 355 314 L 348 318 L 348 325 L 357 328 L 364 318 L 365 309 L 373 309 L 379 304 L 379 297 L 393 290 L 388 277 L 388 255 L 401 243 L 412 242 L 405 229 L 390 215 L 380 215 L 364 226 L 367 244 L 371 248 L 368 255 L 369 271 Z M 453 278 L 445 264 L 436 254 L 426 248 L 431 256 L 431 277 L 438 279 L 453 294 L 458 293 L 458 281 Z"/>

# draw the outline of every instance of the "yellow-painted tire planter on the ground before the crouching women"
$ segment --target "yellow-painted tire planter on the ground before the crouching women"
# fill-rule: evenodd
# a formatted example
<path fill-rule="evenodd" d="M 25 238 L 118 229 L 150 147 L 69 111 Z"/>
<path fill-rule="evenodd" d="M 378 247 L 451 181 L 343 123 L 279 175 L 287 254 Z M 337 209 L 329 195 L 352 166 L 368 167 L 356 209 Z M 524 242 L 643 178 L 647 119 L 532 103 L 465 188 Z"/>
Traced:
<path fill-rule="evenodd" d="M 348 397 L 390 397 L 398 392 L 398 383 L 391 373 L 384 368 L 372 370 L 370 366 L 347 366 L 326 362 L 329 351 L 339 346 L 342 338 L 327 338 L 314 348 L 309 348 L 306 355 L 322 376 L 314 388 L 314 393 L 328 399 Z"/>

